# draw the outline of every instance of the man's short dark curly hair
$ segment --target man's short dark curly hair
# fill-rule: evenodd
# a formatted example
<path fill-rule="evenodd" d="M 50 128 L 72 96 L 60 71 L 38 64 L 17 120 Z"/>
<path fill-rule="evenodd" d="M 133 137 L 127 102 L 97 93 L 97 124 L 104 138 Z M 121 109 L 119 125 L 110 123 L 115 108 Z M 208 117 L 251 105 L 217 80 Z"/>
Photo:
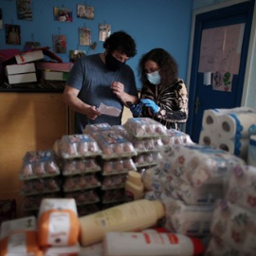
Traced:
<path fill-rule="evenodd" d="M 124 31 L 118 31 L 111 34 L 104 42 L 103 47 L 110 53 L 118 50 L 127 57 L 134 57 L 137 54 L 135 40 Z"/>

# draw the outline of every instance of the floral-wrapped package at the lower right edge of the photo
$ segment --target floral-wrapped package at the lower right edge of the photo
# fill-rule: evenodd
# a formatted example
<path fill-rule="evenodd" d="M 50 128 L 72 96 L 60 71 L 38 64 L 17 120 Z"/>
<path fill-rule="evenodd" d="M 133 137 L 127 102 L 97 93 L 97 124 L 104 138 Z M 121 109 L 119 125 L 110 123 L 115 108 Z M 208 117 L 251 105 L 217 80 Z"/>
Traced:
<path fill-rule="evenodd" d="M 218 200 L 206 255 L 247 255 L 256 251 L 256 168 L 237 167 L 224 199 Z"/>

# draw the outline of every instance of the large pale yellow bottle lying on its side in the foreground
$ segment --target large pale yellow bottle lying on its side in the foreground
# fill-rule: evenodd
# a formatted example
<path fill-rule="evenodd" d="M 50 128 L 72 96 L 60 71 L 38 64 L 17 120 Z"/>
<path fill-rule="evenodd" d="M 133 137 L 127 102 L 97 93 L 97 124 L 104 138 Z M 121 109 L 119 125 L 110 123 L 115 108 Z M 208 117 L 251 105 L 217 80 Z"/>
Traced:
<path fill-rule="evenodd" d="M 80 242 L 82 247 L 99 243 L 107 231 L 137 231 L 154 226 L 164 217 L 164 205 L 157 200 L 140 199 L 82 216 Z"/>

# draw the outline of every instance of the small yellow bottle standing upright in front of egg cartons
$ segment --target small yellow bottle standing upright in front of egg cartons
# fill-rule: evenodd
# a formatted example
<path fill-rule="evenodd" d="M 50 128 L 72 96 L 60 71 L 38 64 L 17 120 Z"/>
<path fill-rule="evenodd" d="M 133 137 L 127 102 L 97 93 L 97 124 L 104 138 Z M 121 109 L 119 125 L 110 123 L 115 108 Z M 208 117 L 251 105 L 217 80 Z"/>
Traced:
<path fill-rule="evenodd" d="M 125 182 L 125 200 L 126 202 L 142 199 L 144 196 L 144 186 L 141 174 L 130 171 Z"/>

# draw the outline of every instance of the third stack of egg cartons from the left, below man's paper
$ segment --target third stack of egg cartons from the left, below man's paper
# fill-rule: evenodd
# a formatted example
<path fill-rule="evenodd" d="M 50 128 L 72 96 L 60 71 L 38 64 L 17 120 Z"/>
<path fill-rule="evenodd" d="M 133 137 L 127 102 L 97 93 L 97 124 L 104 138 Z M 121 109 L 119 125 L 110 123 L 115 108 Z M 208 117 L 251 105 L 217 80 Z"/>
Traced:
<path fill-rule="evenodd" d="M 101 209 L 123 203 L 127 174 L 130 171 L 137 171 L 132 158 L 137 155 L 133 144 L 107 123 L 86 125 L 83 133 L 94 137 L 102 151 L 99 157 Z"/>

